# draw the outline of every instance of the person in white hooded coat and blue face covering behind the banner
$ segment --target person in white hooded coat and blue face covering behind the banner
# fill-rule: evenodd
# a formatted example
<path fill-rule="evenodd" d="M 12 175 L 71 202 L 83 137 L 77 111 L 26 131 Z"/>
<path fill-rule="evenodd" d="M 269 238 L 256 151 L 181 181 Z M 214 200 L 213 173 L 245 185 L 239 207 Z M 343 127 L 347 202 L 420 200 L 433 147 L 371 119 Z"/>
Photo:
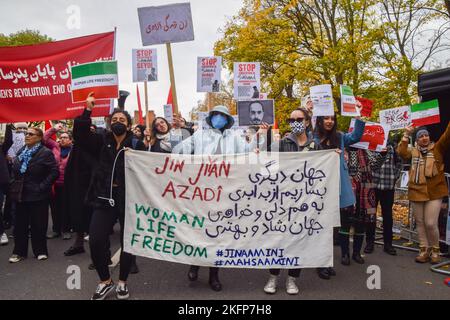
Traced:
<path fill-rule="evenodd" d="M 260 136 L 257 143 L 253 139 L 248 143 L 240 134 L 229 130 L 233 127 L 234 119 L 225 106 L 216 106 L 211 110 L 206 123 L 211 127 L 207 130 L 198 130 L 191 137 L 187 138 L 175 148 L 172 153 L 176 154 L 196 154 L 196 155 L 220 155 L 248 153 L 263 146 L 265 143 L 264 134 L 269 127 L 263 124 L 257 135 Z M 190 281 L 196 281 L 200 267 L 191 266 L 188 272 Z M 219 268 L 209 268 L 209 285 L 214 291 L 221 291 L 222 284 L 219 280 Z"/>

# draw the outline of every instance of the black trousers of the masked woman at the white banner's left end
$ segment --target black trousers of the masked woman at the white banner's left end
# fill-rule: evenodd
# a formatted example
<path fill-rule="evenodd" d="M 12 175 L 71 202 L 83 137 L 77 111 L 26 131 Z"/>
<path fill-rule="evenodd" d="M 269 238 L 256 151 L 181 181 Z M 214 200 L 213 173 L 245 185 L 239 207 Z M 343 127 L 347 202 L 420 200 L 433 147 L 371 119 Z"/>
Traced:
<path fill-rule="evenodd" d="M 119 219 L 120 224 L 120 245 L 122 248 L 119 280 L 127 281 L 130 274 L 133 256 L 123 251 L 125 209 L 122 207 L 94 209 L 89 229 L 89 247 L 91 249 L 92 263 L 101 281 L 107 281 L 111 278 L 108 267 L 109 259 L 111 258 L 109 236 L 117 219 Z"/>

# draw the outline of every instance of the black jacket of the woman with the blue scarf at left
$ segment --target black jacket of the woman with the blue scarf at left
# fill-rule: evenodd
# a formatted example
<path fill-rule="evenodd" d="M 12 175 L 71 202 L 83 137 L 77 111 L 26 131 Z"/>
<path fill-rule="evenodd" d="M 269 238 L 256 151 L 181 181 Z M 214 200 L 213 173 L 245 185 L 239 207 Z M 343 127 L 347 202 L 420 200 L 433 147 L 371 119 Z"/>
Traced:
<path fill-rule="evenodd" d="M 20 155 L 23 147 L 17 153 Z M 52 185 L 58 179 L 59 170 L 53 152 L 41 145 L 28 163 L 27 171 L 22 175 L 22 162 L 17 156 L 12 166 L 13 179 L 23 178 L 22 202 L 33 202 L 49 199 Z"/>

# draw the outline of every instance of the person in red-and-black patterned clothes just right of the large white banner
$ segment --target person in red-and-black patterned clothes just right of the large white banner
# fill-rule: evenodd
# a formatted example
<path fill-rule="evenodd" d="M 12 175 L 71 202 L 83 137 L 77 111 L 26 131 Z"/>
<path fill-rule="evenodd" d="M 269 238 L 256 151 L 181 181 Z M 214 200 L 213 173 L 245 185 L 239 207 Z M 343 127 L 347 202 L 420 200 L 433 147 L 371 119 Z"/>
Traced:
<path fill-rule="evenodd" d="M 342 264 L 350 265 L 350 228 L 354 227 L 352 259 L 359 264 L 365 261 L 361 257 L 366 227 L 376 223 L 377 208 L 374 171 L 385 161 L 386 153 L 350 147 L 348 151 L 348 172 L 352 180 L 352 188 L 356 197 L 356 205 L 352 210 L 345 210 L 341 215 L 341 250 Z"/>

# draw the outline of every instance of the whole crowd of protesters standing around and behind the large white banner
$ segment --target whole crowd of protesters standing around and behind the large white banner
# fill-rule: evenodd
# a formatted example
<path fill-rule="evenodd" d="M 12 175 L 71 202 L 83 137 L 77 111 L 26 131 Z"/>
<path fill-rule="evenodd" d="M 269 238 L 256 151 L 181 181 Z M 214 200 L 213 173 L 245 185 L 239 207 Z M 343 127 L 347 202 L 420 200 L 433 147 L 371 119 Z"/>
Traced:
<path fill-rule="evenodd" d="M 209 112 L 206 118 L 209 130 L 197 130 L 179 115 L 174 116 L 172 123 L 157 117 L 149 128 L 132 127 L 130 115 L 121 109 L 109 117 L 110 130 L 102 130 L 92 124 L 94 108 L 95 98 L 91 94 L 86 109 L 74 120 L 73 133 L 60 123 L 46 132 L 28 128 L 26 123 L 6 127 L 0 146 L 0 243 L 8 244 L 5 230 L 13 227 L 10 263 L 28 256 L 29 239 L 34 256 L 46 260 L 47 239 L 70 240 L 74 235 L 74 242 L 64 255 L 85 253 L 85 242 L 89 241 L 91 267 L 99 277 L 92 299 L 102 300 L 114 289 L 118 299 L 127 299 L 128 276 L 138 272 L 135 257 L 121 251 L 117 285 L 108 268 L 109 237 L 117 222 L 123 247 L 125 149 L 196 155 L 335 150 L 340 157 L 340 212 L 335 219 L 335 225 L 340 227 L 335 243 L 340 245 L 341 263 L 345 266 L 351 261 L 365 263 L 361 254 L 364 238 L 364 253 L 373 253 L 378 204 L 383 218 L 384 252 L 396 255 L 392 233 L 395 186 L 402 165 L 410 165 L 409 200 L 420 241 L 416 261 L 433 264 L 441 261 L 438 218 L 442 201 L 448 196 L 444 155 L 450 147 L 450 125 L 435 143 L 425 128 L 414 131 L 408 127 L 400 141 L 390 139 L 384 150 L 374 152 L 352 147 L 362 138 L 365 128 L 362 119 L 357 117 L 351 133 L 342 133 L 337 130 L 335 116 L 317 117 L 313 121 L 308 106 L 292 111 L 289 119 L 284 119 L 290 132 L 283 137 L 272 134 L 265 123 L 252 135 L 231 130 L 234 119 L 225 106 L 216 106 Z M 415 141 L 413 146 L 411 138 Z M 47 234 L 49 208 L 52 229 Z M 191 266 L 188 279 L 196 281 L 198 272 L 198 266 Z M 274 294 L 280 270 L 269 272 L 264 291 Z M 288 271 L 288 294 L 298 294 L 296 280 L 300 273 L 301 269 Z M 317 273 L 327 280 L 336 276 L 334 268 L 318 268 Z M 209 269 L 209 285 L 214 291 L 222 290 L 218 268 Z"/>

